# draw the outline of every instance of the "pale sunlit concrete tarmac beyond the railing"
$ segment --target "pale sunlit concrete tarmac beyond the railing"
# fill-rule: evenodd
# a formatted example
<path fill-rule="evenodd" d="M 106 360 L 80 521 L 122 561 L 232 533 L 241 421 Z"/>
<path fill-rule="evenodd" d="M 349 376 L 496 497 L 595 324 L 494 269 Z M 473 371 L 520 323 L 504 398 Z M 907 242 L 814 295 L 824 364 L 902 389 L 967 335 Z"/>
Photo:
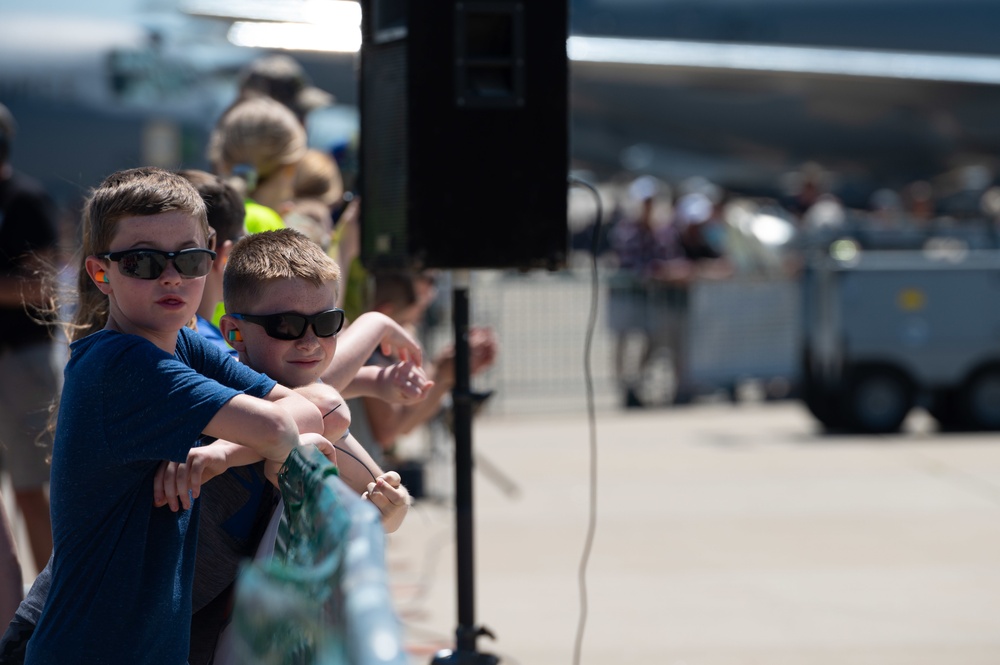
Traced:
<path fill-rule="evenodd" d="M 1000 434 L 907 430 L 823 435 L 798 402 L 599 413 L 577 662 L 1000 663 Z M 574 663 L 586 414 L 487 413 L 473 440 L 479 651 Z M 430 471 L 387 549 L 414 664 L 457 625 L 449 474 Z"/>

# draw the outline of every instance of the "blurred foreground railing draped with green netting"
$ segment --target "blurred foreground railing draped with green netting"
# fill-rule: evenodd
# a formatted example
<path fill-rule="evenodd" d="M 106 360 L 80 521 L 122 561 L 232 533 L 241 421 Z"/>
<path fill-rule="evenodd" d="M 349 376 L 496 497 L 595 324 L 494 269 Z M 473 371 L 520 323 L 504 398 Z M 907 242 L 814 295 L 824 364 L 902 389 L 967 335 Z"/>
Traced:
<path fill-rule="evenodd" d="M 281 474 L 274 557 L 237 583 L 228 660 L 240 665 L 405 665 L 378 510 L 314 450 Z"/>

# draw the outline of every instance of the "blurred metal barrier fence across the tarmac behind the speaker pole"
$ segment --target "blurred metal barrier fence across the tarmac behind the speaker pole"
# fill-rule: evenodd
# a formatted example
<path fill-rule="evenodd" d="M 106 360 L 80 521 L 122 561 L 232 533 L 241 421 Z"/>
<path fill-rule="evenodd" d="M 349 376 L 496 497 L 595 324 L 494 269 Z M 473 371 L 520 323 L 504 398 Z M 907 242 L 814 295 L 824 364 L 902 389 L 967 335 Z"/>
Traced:
<path fill-rule="evenodd" d="M 598 408 L 621 404 L 614 371 L 614 333 L 608 324 L 609 275 L 600 274 L 598 313 L 591 356 Z M 451 287 L 439 284 L 443 312 L 429 331 L 429 350 L 453 337 Z M 470 325 L 497 333 L 496 365 L 474 377 L 473 389 L 493 390 L 490 413 L 583 411 L 584 345 L 592 280 L 586 269 L 560 272 L 471 271 Z M 798 283 L 783 279 L 705 280 L 689 298 L 688 366 L 705 392 L 745 380 L 794 382 L 800 318 Z M 647 383 L 669 395 L 674 377 L 662 354 L 654 357 Z"/>

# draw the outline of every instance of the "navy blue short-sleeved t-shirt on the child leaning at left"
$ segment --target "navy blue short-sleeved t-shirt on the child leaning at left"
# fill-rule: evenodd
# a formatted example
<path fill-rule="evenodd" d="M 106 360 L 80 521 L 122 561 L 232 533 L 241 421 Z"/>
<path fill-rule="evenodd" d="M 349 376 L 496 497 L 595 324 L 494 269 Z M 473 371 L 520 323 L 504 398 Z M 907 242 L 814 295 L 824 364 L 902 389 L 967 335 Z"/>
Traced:
<path fill-rule="evenodd" d="M 187 661 L 198 502 L 155 508 L 153 475 L 185 461 L 235 395 L 274 386 L 186 328 L 174 355 L 113 331 L 72 345 L 52 453 L 52 588 L 27 663 Z"/>

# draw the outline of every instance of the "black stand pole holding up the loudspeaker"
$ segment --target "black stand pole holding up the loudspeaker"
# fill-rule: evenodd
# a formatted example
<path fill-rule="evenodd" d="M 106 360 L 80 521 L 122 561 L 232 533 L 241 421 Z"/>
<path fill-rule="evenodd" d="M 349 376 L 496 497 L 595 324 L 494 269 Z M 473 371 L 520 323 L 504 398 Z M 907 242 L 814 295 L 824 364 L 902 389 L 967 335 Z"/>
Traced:
<path fill-rule="evenodd" d="M 455 651 L 439 651 L 433 665 L 494 665 L 500 659 L 479 653 L 476 640 L 493 637 L 476 625 L 474 538 L 472 515 L 472 386 L 469 365 L 469 271 L 452 272 L 452 319 L 455 326 L 455 543 L 458 570 L 458 628 Z"/>

